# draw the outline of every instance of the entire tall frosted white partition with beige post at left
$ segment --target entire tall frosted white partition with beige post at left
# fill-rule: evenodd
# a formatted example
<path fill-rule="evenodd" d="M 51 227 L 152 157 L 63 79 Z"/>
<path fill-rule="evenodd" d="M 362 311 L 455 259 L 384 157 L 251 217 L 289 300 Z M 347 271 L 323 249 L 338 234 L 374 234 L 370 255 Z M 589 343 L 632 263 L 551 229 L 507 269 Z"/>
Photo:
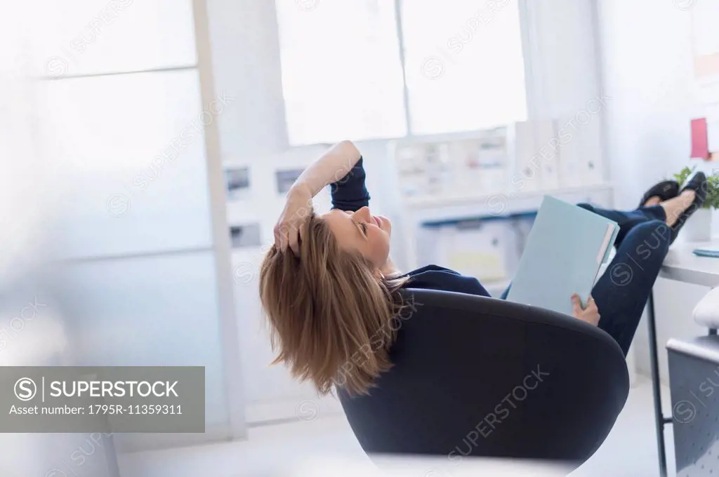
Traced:
<path fill-rule="evenodd" d="M 239 104 L 214 89 L 205 1 L 70 3 L 31 0 L 43 16 L 26 34 L 68 363 L 205 366 L 206 433 L 120 450 L 242 438 L 216 129 Z"/>

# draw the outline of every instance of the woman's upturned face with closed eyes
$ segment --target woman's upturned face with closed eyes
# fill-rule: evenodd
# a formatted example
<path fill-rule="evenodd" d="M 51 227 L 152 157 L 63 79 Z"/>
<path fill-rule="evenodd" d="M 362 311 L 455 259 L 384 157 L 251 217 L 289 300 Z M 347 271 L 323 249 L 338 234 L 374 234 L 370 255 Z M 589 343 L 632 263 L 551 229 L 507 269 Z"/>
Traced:
<path fill-rule="evenodd" d="M 372 216 L 369 207 L 357 212 L 333 209 L 322 216 L 339 242 L 346 250 L 357 250 L 382 269 L 390 256 L 392 223 L 383 216 Z"/>

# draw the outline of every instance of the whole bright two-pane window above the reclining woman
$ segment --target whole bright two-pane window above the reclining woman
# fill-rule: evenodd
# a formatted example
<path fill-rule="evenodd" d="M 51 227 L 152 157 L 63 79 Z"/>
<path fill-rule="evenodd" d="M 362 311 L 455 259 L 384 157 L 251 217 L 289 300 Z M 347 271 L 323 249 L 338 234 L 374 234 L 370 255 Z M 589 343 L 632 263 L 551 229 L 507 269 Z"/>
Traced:
<path fill-rule="evenodd" d="M 290 144 L 526 119 L 518 0 L 275 4 Z"/>

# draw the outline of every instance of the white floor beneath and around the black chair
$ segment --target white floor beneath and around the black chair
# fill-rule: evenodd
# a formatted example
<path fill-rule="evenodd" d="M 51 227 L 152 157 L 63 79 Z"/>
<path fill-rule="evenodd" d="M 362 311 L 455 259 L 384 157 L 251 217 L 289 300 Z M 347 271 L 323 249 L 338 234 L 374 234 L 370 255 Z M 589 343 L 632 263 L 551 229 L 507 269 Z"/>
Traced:
<path fill-rule="evenodd" d="M 663 395 L 664 411 L 669 415 L 669 389 L 664 388 Z M 654 429 L 651 386 L 646 378 L 639 378 L 604 445 L 572 476 L 659 475 Z M 666 436 L 669 476 L 673 476 L 671 426 L 667 426 Z M 243 442 L 124 455 L 120 457 L 120 467 L 122 477 L 274 476 L 281 475 L 271 472 L 280 467 L 327 455 L 366 460 L 342 415 L 256 427 L 250 430 L 249 440 Z"/>

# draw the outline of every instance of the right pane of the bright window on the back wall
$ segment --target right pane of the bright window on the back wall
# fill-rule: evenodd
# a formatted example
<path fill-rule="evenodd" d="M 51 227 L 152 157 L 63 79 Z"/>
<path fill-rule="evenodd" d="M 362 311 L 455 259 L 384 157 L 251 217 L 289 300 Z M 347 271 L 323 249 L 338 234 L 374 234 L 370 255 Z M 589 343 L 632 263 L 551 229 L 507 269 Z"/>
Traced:
<path fill-rule="evenodd" d="M 526 119 L 517 0 L 403 1 L 411 131 Z"/>

